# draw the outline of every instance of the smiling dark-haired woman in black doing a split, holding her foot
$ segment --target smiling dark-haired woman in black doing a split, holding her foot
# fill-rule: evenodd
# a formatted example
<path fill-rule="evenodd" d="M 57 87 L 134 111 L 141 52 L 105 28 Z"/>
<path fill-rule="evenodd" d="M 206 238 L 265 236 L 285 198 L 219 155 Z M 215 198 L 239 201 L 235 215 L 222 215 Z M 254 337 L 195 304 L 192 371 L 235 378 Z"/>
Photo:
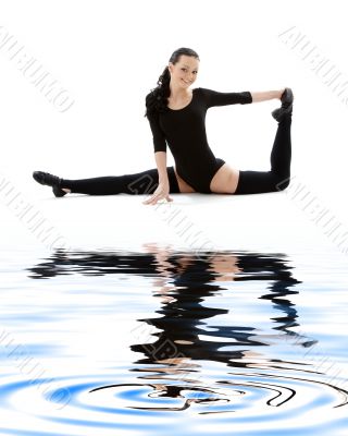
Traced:
<path fill-rule="evenodd" d="M 48 172 L 34 171 L 34 179 L 52 186 L 55 196 L 66 193 L 113 195 L 147 194 L 142 203 L 156 204 L 170 193 L 257 194 L 284 190 L 289 184 L 293 116 L 290 88 L 269 92 L 219 93 L 194 88 L 199 70 L 196 51 L 183 47 L 173 52 L 158 86 L 146 96 L 146 113 L 153 136 L 157 168 L 133 174 L 91 179 L 61 179 Z M 272 116 L 278 122 L 271 152 L 270 171 L 241 171 L 215 158 L 207 141 L 206 113 L 210 107 L 251 104 L 278 98 L 282 106 Z M 175 167 L 166 167 L 166 146 Z"/>

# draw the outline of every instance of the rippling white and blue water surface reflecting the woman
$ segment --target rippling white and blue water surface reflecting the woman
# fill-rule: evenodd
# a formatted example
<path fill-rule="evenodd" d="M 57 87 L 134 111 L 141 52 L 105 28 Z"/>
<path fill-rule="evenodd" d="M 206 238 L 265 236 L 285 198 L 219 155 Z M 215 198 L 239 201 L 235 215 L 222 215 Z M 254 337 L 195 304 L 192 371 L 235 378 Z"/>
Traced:
<path fill-rule="evenodd" d="M 1 254 L 1 435 L 347 434 L 346 259 Z"/>

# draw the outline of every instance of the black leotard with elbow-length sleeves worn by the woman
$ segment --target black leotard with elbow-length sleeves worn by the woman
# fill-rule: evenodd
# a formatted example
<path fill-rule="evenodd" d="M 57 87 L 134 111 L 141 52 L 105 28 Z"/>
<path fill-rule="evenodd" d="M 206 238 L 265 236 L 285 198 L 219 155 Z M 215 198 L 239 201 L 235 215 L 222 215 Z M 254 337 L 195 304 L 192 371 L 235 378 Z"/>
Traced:
<path fill-rule="evenodd" d="M 206 113 L 210 107 L 250 104 L 249 90 L 219 93 L 207 88 L 192 89 L 191 101 L 183 109 L 170 109 L 149 117 L 156 152 L 169 145 L 178 175 L 197 192 L 210 193 L 210 182 L 225 164 L 215 158 L 206 133 Z"/>

